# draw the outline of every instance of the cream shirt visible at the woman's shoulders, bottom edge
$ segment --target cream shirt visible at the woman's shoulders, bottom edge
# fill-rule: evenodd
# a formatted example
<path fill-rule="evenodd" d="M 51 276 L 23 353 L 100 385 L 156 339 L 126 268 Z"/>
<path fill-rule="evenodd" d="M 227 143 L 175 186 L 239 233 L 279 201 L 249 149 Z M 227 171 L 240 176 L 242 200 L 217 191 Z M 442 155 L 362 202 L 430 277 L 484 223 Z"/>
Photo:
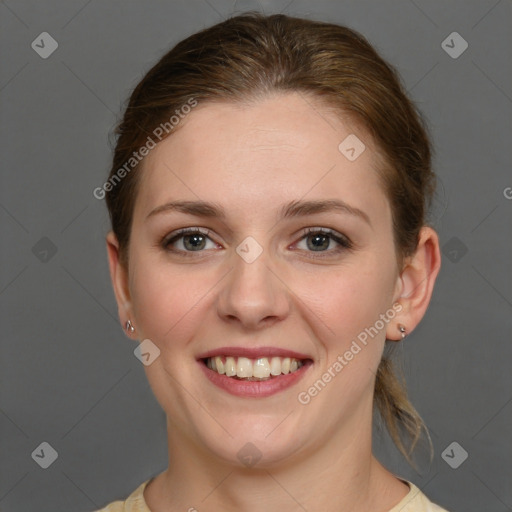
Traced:
<path fill-rule="evenodd" d="M 114 501 L 95 512 L 151 512 L 144 500 L 144 488 L 150 480 L 140 484 L 125 501 Z M 448 512 L 435 505 L 413 483 L 404 482 L 410 487 L 409 493 L 389 512 Z M 192 509 L 193 510 L 193 509 Z"/>

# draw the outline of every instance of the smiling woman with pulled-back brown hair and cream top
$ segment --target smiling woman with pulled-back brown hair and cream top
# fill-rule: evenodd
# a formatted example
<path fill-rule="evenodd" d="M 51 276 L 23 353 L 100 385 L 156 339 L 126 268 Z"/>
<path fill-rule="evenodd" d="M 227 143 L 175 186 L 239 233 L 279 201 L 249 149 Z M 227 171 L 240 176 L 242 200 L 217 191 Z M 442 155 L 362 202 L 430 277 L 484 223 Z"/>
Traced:
<path fill-rule="evenodd" d="M 393 69 L 347 28 L 237 16 L 167 53 L 117 134 L 110 272 L 169 466 L 103 510 L 442 511 L 371 449 L 374 406 L 408 459 L 422 432 L 387 348 L 440 267 Z"/>

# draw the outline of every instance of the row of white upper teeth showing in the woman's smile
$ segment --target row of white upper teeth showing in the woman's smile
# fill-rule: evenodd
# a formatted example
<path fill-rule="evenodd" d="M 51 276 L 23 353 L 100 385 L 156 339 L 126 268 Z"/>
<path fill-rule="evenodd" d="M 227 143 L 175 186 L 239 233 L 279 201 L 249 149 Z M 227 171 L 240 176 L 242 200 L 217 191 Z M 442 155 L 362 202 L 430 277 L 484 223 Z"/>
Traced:
<path fill-rule="evenodd" d="M 270 359 L 270 361 L 269 361 Z M 220 375 L 239 379 L 258 380 L 277 377 L 297 371 L 303 362 L 290 357 L 247 357 L 215 356 L 206 360 L 206 366 Z"/>

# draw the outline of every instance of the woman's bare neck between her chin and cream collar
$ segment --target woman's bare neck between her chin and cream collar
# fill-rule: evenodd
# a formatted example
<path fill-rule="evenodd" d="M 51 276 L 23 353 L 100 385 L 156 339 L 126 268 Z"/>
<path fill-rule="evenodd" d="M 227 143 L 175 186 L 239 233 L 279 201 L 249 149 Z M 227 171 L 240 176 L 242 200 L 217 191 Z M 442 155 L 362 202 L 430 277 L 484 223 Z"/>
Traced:
<path fill-rule="evenodd" d="M 152 512 L 389 510 L 408 488 L 373 457 L 371 424 L 354 427 L 285 464 L 245 468 L 202 450 L 168 422 L 169 467 L 148 485 L 146 502 Z"/>

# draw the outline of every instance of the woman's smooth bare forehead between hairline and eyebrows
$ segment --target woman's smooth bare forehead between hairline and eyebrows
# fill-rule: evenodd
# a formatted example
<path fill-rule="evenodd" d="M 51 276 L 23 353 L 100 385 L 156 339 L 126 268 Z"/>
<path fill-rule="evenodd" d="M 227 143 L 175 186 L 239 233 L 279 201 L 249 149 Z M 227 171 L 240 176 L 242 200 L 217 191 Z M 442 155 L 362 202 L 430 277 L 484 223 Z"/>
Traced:
<path fill-rule="evenodd" d="M 144 160 L 139 213 L 183 198 L 262 211 L 306 195 L 350 198 L 377 215 L 387 209 L 369 135 L 311 97 L 292 93 L 251 105 L 206 103 L 181 123 Z M 347 146 L 353 157 L 360 143 L 364 151 L 347 158 Z"/>

